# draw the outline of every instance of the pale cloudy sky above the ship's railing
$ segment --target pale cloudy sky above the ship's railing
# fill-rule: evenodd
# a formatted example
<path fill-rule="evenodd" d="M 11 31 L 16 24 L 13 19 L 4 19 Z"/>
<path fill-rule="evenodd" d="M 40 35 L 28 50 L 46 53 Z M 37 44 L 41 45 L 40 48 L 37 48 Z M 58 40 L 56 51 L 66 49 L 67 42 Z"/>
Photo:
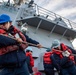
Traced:
<path fill-rule="evenodd" d="M 76 22 L 76 0 L 34 0 L 34 2 L 47 10 Z M 76 44 L 76 40 L 73 44 Z"/>

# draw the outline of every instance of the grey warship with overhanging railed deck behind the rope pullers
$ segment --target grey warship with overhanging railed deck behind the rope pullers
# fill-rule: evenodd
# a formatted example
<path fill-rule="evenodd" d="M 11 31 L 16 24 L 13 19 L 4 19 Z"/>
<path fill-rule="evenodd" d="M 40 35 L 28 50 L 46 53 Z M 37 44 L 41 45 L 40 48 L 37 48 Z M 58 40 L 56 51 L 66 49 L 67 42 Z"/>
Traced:
<path fill-rule="evenodd" d="M 11 16 L 13 25 L 20 29 L 21 25 L 27 23 L 27 35 L 39 41 L 44 47 L 50 48 L 52 41 L 58 39 L 73 48 L 72 41 L 76 37 L 76 23 L 38 6 L 32 0 L 13 1 L 14 3 L 10 3 L 10 0 L 0 2 L 0 14 L 5 13 Z M 34 67 L 44 75 L 43 54 L 46 49 L 32 48 Z"/>

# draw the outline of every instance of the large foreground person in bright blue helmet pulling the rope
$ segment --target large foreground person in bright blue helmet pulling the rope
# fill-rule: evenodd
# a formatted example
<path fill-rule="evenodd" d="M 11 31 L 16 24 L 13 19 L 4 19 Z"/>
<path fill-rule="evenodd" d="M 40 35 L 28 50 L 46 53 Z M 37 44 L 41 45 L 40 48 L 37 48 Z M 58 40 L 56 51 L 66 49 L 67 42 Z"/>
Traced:
<path fill-rule="evenodd" d="M 0 16 L 0 75 L 29 75 L 24 52 L 28 44 L 23 44 L 26 38 L 12 25 L 10 16 Z"/>

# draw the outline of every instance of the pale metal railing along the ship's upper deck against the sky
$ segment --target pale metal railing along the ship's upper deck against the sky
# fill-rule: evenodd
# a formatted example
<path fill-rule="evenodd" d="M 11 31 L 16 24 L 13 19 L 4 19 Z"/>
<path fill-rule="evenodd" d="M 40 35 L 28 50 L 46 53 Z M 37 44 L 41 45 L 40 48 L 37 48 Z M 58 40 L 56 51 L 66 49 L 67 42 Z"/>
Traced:
<path fill-rule="evenodd" d="M 61 18 L 66 24 L 67 24 L 67 27 L 70 28 L 70 29 L 73 29 L 73 30 L 76 30 L 76 23 L 75 22 L 72 22 L 71 20 L 69 19 L 66 19 L 52 11 L 49 11 L 45 8 L 42 8 L 40 6 L 38 6 L 37 4 L 34 4 L 34 7 L 36 8 L 36 14 L 39 15 L 39 16 L 44 16 L 45 18 L 47 19 L 50 19 L 50 20 L 55 20 L 56 18 Z"/>

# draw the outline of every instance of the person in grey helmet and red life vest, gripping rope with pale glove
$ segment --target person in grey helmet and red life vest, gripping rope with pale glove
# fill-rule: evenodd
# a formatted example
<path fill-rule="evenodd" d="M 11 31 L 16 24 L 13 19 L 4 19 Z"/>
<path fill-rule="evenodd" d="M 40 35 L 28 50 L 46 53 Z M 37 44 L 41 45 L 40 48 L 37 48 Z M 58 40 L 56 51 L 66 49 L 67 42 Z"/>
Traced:
<path fill-rule="evenodd" d="M 53 57 L 61 67 L 62 75 L 75 75 L 76 67 L 74 64 L 74 56 L 71 55 L 71 50 L 63 43 L 60 43 L 59 40 L 52 42 L 52 50 Z"/>

